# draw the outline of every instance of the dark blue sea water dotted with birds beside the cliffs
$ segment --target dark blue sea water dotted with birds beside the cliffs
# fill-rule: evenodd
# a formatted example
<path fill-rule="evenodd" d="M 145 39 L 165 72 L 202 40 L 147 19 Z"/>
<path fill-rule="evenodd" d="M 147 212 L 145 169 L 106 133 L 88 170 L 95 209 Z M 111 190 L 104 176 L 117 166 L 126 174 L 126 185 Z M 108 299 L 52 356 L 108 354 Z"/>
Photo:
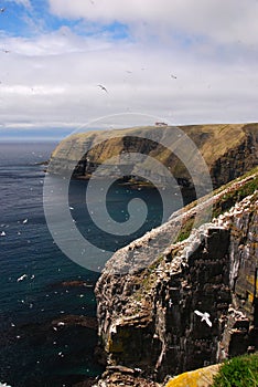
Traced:
<path fill-rule="evenodd" d="M 62 282 L 95 283 L 99 276 L 69 260 L 47 229 L 45 167 L 39 163 L 49 159 L 54 147 L 53 143 L 0 144 L 0 381 L 12 387 L 72 386 L 103 372 L 94 359 L 96 331 L 82 326 L 54 331 L 52 326 L 53 320 L 67 315 L 96 315 L 93 287 L 63 286 Z M 90 222 L 85 210 L 86 186 L 85 181 L 71 182 L 71 206 L 78 229 L 82 233 L 88 230 L 88 238 L 100 249 L 116 250 L 160 224 L 158 191 L 115 184 L 107 201 L 117 221 L 125 221 L 128 198 L 144 198 L 150 208 L 139 232 L 115 243 Z M 89 252 L 89 259 L 96 257 Z"/>

